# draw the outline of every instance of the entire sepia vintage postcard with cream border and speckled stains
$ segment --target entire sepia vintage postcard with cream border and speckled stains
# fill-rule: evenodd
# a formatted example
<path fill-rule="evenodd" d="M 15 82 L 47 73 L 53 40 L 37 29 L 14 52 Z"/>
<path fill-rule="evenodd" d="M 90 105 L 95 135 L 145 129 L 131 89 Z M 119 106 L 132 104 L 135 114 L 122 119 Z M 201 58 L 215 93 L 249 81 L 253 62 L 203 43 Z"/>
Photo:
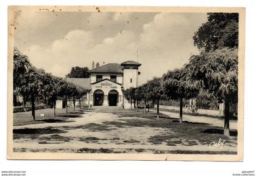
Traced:
<path fill-rule="evenodd" d="M 243 161 L 245 8 L 10 6 L 18 160 Z"/>

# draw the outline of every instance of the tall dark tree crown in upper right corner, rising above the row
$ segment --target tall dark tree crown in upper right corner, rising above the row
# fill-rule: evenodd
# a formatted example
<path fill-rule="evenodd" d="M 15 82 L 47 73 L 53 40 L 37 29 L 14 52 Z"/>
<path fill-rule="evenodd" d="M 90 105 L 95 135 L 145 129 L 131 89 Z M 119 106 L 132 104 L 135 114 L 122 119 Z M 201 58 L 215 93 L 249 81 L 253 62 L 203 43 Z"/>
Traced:
<path fill-rule="evenodd" d="M 194 33 L 194 46 L 210 50 L 238 47 L 238 13 L 207 13 L 208 21 Z"/>

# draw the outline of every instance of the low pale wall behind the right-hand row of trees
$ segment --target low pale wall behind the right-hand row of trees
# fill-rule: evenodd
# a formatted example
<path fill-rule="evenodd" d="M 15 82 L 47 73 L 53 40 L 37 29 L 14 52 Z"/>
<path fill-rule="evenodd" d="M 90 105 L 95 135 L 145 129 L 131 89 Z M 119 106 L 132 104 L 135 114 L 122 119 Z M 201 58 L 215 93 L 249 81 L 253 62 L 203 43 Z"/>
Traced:
<path fill-rule="evenodd" d="M 154 106 L 157 108 L 157 105 Z M 180 110 L 180 107 L 176 106 L 165 106 L 165 105 L 159 105 L 160 109 L 169 109 L 169 110 Z M 183 108 L 183 112 L 185 112 L 185 109 Z M 220 111 L 219 110 L 210 110 L 210 109 L 197 109 L 197 112 L 201 115 L 209 115 L 209 116 L 220 116 Z"/>

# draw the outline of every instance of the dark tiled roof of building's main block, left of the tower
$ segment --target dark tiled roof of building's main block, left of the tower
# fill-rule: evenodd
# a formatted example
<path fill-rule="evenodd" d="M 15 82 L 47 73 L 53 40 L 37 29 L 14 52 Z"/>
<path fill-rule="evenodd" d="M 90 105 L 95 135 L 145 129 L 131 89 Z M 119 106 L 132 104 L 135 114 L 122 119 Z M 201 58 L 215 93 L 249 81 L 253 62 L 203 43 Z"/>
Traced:
<path fill-rule="evenodd" d="M 106 64 L 104 66 L 89 70 L 90 73 L 123 73 L 120 64 Z"/>

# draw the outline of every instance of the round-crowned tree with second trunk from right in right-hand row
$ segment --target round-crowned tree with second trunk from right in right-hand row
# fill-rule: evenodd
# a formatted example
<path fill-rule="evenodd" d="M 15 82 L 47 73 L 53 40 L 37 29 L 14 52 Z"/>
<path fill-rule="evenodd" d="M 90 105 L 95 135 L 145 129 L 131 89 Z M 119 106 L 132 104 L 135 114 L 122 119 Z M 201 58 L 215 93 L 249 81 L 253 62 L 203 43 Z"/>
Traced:
<path fill-rule="evenodd" d="M 180 123 L 182 123 L 183 98 L 192 98 L 199 92 L 199 81 L 189 80 L 190 73 L 183 67 L 168 71 L 162 77 L 162 87 L 168 98 L 180 100 Z"/>

